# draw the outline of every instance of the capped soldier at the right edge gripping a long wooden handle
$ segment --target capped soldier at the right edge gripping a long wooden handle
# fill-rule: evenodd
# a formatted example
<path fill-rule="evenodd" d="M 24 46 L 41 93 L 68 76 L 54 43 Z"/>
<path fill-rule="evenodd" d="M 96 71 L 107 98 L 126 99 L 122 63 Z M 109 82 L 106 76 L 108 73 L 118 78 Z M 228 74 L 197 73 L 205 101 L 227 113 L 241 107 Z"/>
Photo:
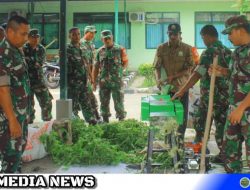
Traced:
<path fill-rule="evenodd" d="M 223 34 L 237 46 L 229 69 L 217 67 L 219 75 L 229 76 L 229 109 L 223 139 L 225 170 L 242 170 L 242 142 L 246 143 L 246 158 L 250 167 L 250 24 L 243 15 L 229 18 Z M 210 71 L 211 72 L 211 71 Z"/>

